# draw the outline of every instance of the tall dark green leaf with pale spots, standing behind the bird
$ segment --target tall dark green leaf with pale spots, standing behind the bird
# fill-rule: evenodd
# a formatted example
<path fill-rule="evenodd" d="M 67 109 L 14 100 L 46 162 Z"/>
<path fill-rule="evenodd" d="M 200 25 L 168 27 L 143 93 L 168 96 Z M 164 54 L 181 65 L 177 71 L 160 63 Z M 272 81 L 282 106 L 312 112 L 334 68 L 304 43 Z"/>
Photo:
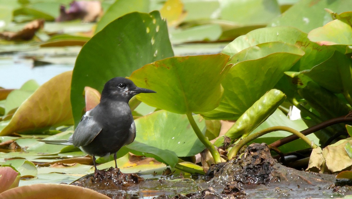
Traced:
<path fill-rule="evenodd" d="M 109 79 L 128 76 L 147 63 L 173 55 L 166 22 L 159 12 L 134 12 L 111 22 L 83 46 L 77 57 L 71 87 L 75 124 L 84 108 L 85 86 L 101 91 Z"/>

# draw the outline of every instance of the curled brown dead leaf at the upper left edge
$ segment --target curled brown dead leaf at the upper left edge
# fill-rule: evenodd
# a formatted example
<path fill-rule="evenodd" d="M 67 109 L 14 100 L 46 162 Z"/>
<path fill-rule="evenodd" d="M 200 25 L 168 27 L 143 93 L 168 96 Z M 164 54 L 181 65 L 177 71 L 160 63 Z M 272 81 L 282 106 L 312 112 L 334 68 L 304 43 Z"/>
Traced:
<path fill-rule="evenodd" d="M 24 28 L 18 32 L 1 32 L 0 38 L 8 41 L 13 40 L 31 40 L 34 34 L 44 27 L 44 19 L 36 19 L 27 23 Z"/>

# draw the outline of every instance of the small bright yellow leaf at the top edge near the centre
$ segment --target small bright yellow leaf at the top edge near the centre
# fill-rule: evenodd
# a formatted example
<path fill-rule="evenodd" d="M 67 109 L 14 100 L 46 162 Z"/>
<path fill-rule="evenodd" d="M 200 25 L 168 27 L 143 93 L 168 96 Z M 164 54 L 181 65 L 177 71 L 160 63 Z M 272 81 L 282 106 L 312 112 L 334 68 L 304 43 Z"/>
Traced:
<path fill-rule="evenodd" d="M 176 26 L 186 17 L 181 0 L 167 0 L 160 9 L 160 14 L 163 18 L 166 18 L 168 26 Z"/>

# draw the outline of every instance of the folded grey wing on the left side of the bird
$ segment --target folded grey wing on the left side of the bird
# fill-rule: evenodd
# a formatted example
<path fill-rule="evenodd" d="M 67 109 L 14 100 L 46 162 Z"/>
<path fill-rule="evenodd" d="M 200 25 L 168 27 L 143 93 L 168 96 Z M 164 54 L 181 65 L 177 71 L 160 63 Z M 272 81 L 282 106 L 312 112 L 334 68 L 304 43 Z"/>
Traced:
<path fill-rule="evenodd" d="M 73 133 L 73 145 L 75 147 L 83 147 L 100 133 L 102 126 L 96 122 L 93 116 L 89 115 L 89 111 L 84 114 L 81 122 L 78 123 L 75 132 Z"/>

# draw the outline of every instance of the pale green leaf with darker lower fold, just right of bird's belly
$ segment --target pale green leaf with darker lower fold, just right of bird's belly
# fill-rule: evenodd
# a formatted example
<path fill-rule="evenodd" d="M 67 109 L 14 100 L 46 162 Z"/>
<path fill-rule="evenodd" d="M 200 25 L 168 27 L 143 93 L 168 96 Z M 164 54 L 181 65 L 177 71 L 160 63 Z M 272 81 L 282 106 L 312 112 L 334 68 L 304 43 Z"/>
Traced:
<path fill-rule="evenodd" d="M 199 115 L 194 116 L 194 119 L 205 133 L 205 119 Z M 127 148 L 154 154 L 172 167 L 177 163 L 177 157 L 193 156 L 205 149 L 190 128 L 186 115 L 160 110 L 140 117 L 135 122 L 136 139 Z"/>

